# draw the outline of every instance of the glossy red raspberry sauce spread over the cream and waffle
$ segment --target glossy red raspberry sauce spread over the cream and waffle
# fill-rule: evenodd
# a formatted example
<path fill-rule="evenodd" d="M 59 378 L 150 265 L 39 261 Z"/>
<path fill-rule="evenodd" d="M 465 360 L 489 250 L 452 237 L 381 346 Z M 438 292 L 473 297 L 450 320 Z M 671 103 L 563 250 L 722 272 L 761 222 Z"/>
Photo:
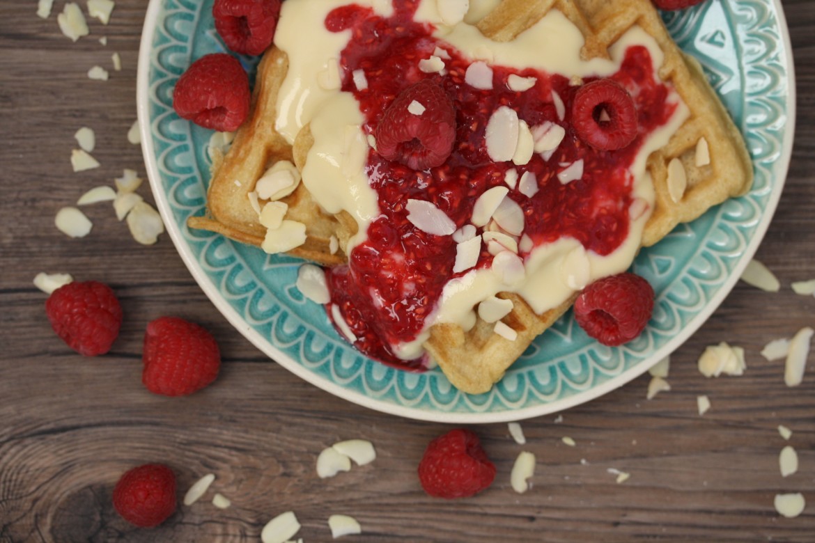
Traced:
<path fill-rule="evenodd" d="M 670 91 L 666 85 L 654 79 L 649 51 L 644 46 L 628 47 L 619 72 L 611 77 L 632 94 L 639 132 L 628 147 L 597 151 L 571 128 L 571 103 L 579 86 L 557 74 L 493 65 L 494 88 L 474 89 L 465 83 L 472 60 L 433 37 L 430 24 L 413 20 L 417 3 L 394 2 L 389 18 L 350 5 L 331 11 L 325 21 L 332 32 L 350 28 L 353 33 L 341 54 L 341 90 L 354 94 L 359 102 L 366 134 L 376 134 L 377 120 L 385 108 L 402 90 L 423 78 L 442 85 L 456 107 L 456 143 L 445 164 L 417 172 L 382 159 L 376 151 L 369 152 L 366 172 L 382 216 L 369 226 L 368 239 L 350 252 L 348 264 L 328 270 L 330 304 L 337 305 L 356 336 L 355 347 L 369 357 L 409 370 L 421 370 L 423 361 L 401 360 L 391 346 L 416 339 L 445 284 L 469 270 L 452 273 L 456 242 L 452 236 L 427 234 L 413 226 L 407 220 L 408 199 L 432 202 L 460 228 L 469 223 L 478 196 L 493 186 L 504 186 L 508 169 L 517 169 L 519 177 L 532 172 L 538 192 L 528 198 L 513 189 L 509 197 L 522 208 L 524 234 L 534 245 L 570 236 L 587 251 L 608 255 L 628 237 L 630 166 L 643 140 L 665 125 L 676 108 L 667 102 Z M 421 72 L 419 61 L 433 55 L 437 46 L 451 57 L 444 60 L 445 71 Z M 368 81 L 368 88 L 361 91 L 351 77 L 358 69 Z M 509 90 L 507 81 L 513 73 L 537 78 L 535 86 L 524 92 Z M 591 78 L 584 80 L 588 81 Z M 562 120 L 557 116 L 553 91 L 566 106 Z M 548 160 L 535 154 L 528 164 L 516 166 L 490 159 L 484 138 L 487 120 L 503 105 L 518 112 L 530 127 L 551 121 L 566 129 L 566 137 Z M 576 160 L 584 161 L 583 177 L 562 184 L 557 173 Z M 481 232 L 479 229 L 478 234 Z M 476 267 L 488 268 L 491 261 L 482 244 Z"/>

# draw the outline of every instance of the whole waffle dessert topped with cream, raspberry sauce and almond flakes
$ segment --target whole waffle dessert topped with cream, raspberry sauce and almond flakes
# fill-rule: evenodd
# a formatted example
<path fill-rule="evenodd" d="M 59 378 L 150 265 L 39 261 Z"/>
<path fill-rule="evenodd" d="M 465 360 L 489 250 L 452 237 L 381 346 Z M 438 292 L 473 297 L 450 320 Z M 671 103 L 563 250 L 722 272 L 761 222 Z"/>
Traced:
<path fill-rule="evenodd" d="M 356 348 L 479 393 L 751 182 L 650 0 L 287 0 L 189 226 L 322 265 Z"/>

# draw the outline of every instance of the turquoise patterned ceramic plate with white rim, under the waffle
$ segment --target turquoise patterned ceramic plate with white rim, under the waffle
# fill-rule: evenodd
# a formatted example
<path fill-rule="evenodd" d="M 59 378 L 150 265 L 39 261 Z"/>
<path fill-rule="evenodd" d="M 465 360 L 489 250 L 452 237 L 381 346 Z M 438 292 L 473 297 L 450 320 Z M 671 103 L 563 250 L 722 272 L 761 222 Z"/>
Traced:
<path fill-rule="evenodd" d="M 187 217 L 204 211 L 210 133 L 180 120 L 171 97 L 192 60 L 225 50 L 214 32 L 211 7 L 212 0 L 152 0 L 144 24 L 139 121 L 148 175 L 167 229 L 201 288 L 253 344 L 319 388 L 372 409 L 443 422 L 498 422 L 565 409 L 627 383 L 671 353 L 716 309 L 778 204 L 795 120 L 791 47 L 778 0 L 708 0 L 665 14 L 676 42 L 703 63 L 747 134 L 755 186 L 637 257 L 634 271 L 657 292 L 654 317 L 638 339 L 603 347 L 567 313 L 491 392 L 463 394 L 440 370 L 394 370 L 346 344 L 324 310 L 294 286 L 299 261 L 187 230 Z M 257 59 L 241 61 L 252 72 Z"/>

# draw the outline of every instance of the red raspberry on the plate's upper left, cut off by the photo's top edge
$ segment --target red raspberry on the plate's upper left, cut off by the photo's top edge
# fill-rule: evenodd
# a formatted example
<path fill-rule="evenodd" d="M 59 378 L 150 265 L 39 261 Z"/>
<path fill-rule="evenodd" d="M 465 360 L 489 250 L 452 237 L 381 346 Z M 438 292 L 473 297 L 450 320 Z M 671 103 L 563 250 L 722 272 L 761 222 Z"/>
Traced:
<path fill-rule="evenodd" d="M 260 55 L 275 37 L 280 0 L 215 0 L 215 30 L 240 55 Z"/>

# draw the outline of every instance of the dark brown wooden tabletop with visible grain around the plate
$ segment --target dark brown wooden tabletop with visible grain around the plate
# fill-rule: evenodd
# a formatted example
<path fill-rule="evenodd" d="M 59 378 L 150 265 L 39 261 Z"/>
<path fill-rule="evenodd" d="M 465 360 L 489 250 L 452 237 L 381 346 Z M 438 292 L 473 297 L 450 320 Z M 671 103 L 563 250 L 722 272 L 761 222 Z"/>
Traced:
<path fill-rule="evenodd" d="M 645 400 L 648 377 L 587 405 L 522 423 L 527 444 L 506 424 L 474 427 L 496 463 L 495 484 L 477 497 L 425 496 L 416 466 L 425 445 L 449 428 L 380 414 L 298 379 L 233 329 L 187 272 L 167 234 L 135 243 L 108 205 L 87 208 L 94 229 L 68 239 L 57 209 L 122 169 L 144 176 L 141 150 L 127 141 L 136 118 L 139 36 L 147 2 L 118 0 L 107 27 L 72 43 L 35 2 L 0 7 L 0 541 L 258 541 L 273 516 L 293 510 L 303 541 L 330 541 L 329 515 L 352 515 L 363 535 L 347 541 L 815 541 L 815 371 L 798 388 L 782 362 L 760 350 L 815 323 L 815 299 L 790 283 L 815 278 L 815 6 L 785 0 L 798 74 L 795 150 L 786 188 L 758 257 L 782 282 L 769 294 L 739 283 L 709 322 L 672 357 L 672 390 Z M 82 2 L 84 8 L 84 2 Z M 98 42 L 108 37 L 108 45 Z M 90 81 L 88 68 L 121 72 Z M 99 169 L 72 173 L 74 132 L 95 129 Z M 148 200 L 148 186 L 140 190 Z M 46 321 L 37 272 L 107 282 L 126 318 L 104 357 L 69 351 Z M 187 398 L 140 383 L 143 331 L 177 314 L 218 338 L 218 382 Z M 747 352 L 738 378 L 705 379 L 696 361 L 709 344 Z M 711 410 L 700 417 L 696 398 Z M 788 442 L 779 424 L 794 432 Z M 575 447 L 566 446 L 571 436 Z M 363 438 L 376 462 L 319 480 L 315 459 L 337 440 Z M 800 471 L 782 478 L 778 453 L 791 444 Z M 534 486 L 509 486 L 520 450 L 537 456 Z M 217 475 L 204 500 L 179 506 L 159 528 L 133 528 L 111 505 L 123 471 L 165 462 L 179 493 Z M 611 469 L 631 478 L 615 482 Z M 231 499 L 219 510 L 214 492 Z M 773 509 L 777 493 L 804 493 L 796 519 Z"/>

